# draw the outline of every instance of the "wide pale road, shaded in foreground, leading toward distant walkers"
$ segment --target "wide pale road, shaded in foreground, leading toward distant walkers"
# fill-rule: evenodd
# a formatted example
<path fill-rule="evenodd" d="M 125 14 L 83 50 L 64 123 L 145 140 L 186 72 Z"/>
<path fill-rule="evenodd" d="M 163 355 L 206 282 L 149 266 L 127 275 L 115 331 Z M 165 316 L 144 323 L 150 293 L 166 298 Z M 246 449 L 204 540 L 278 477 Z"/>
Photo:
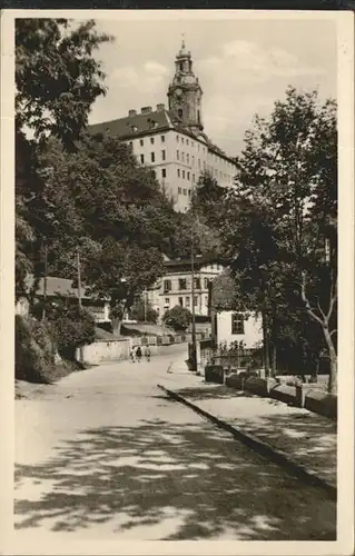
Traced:
<path fill-rule="evenodd" d="M 183 355 L 100 366 L 16 403 L 18 536 L 334 538 L 322 490 L 164 397 L 158 383 L 188 379 L 166 373 Z"/>

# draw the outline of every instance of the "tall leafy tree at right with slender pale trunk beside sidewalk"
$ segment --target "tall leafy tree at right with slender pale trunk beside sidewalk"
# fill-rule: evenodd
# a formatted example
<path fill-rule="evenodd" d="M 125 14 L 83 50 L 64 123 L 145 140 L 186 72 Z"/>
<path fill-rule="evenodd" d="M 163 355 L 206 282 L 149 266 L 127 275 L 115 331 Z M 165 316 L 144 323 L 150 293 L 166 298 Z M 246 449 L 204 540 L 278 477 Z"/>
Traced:
<path fill-rule="evenodd" d="M 285 315 L 307 314 L 328 350 L 336 388 L 336 106 L 289 88 L 269 119 L 256 117 L 225 196 L 225 256 L 256 295 L 268 340 Z M 299 319 L 298 319 L 299 322 Z M 309 320 L 308 320 L 309 322 Z M 297 325 L 298 326 L 298 325 Z"/>

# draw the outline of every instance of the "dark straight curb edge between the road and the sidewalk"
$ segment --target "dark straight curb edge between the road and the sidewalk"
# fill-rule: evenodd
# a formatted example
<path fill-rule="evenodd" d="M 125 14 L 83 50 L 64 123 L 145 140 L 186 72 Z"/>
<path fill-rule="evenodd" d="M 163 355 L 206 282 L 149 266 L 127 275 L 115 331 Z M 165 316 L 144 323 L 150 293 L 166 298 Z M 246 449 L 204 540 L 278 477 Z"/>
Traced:
<path fill-rule="evenodd" d="M 207 418 L 208 420 L 213 421 L 217 427 L 223 428 L 227 433 L 231 434 L 237 440 L 239 440 L 241 444 L 250 448 L 252 450 L 256 451 L 260 456 L 264 456 L 265 458 L 269 459 L 274 464 L 277 464 L 282 467 L 285 467 L 288 471 L 290 471 L 293 475 L 296 475 L 299 479 L 313 485 L 323 488 L 329 498 L 334 502 L 337 500 L 337 488 L 334 487 L 333 485 L 329 485 L 327 481 L 322 479 L 316 475 L 316 473 L 313 469 L 309 469 L 307 467 L 304 467 L 299 464 L 296 464 L 282 450 L 272 447 L 269 444 L 266 444 L 265 441 L 260 440 L 259 438 L 256 438 L 252 434 L 246 434 L 243 433 L 241 430 L 235 428 L 234 426 L 229 425 L 228 423 L 219 419 L 218 417 L 209 414 L 208 411 L 205 411 L 205 409 L 201 409 L 197 405 L 193 404 L 191 401 L 188 401 L 186 398 L 180 396 L 179 394 L 176 394 L 172 390 L 169 390 L 168 388 L 165 388 L 161 385 L 157 385 L 158 388 L 165 391 L 170 398 L 175 399 L 176 401 L 180 401 L 181 404 L 186 405 L 194 411 L 198 413 L 203 417 Z"/>

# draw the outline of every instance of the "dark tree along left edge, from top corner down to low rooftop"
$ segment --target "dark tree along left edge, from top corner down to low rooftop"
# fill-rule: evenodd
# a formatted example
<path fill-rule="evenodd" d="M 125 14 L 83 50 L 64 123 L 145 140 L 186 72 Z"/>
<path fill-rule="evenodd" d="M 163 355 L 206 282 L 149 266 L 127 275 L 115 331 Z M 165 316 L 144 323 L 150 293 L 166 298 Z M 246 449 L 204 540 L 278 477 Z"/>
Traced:
<path fill-rule="evenodd" d="M 92 103 L 106 92 L 101 63 L 93 53 L 108 40 L 92 20 L 79 24 L 66 19 L 16 20 L 17 296 L 24 289 L 27 274 L 41 272 L 45 245 L 52 242 L 60 224 L 53 215 L 58 208 L 47 199 L 46 176 L 39 173 L 39 147 L 55 136 L 65 150 L 75 148 Z M 65 195 L 66 190 L 61 216 L 70 209 Z"/>

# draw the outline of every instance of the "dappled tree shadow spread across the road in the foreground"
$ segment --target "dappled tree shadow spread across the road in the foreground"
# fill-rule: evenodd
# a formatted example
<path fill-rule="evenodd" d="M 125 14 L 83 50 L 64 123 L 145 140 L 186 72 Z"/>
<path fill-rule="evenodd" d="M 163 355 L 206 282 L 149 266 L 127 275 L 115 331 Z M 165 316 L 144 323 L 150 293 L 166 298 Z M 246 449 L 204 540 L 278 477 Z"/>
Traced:
<path fill-rule="evenodd" d="M 82 430 L 52 459 L 17 466 L 16 487 L 17 529 L 110 524 L 118 536 L 170 540 L 336 536 L 335 504 L 321 490 L 204 420 Z"/>

